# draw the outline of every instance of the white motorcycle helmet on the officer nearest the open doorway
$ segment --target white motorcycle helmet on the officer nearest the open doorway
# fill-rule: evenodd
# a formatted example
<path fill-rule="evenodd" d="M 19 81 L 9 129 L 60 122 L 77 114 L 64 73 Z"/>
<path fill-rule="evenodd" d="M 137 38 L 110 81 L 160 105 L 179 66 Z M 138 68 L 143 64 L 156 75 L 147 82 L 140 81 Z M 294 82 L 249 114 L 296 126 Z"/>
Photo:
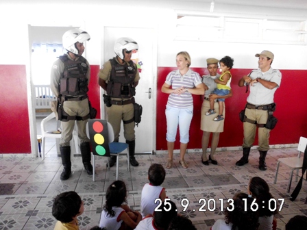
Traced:
<path fill-rule="evenodd" d="M 90 40 L 90 35 L 82 29 L 70 29 L 64 33 L 62 40 L 64 49 L 78 55 L 79 51 L 75 47 L 75 43 Z"/>

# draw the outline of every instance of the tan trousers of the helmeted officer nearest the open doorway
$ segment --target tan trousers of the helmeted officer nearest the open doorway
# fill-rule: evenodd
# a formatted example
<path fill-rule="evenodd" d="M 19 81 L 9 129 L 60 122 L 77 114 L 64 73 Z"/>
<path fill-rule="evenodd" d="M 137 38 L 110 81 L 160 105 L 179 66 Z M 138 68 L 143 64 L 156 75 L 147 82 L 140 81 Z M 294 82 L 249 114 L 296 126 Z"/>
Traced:
<path fill-rule="evenodd" d="M 63 109 L 67 114 L 69 114 L 69 116 L 86 116 L 90 113 L 90 108 L 88 107 L 88 99 L 84 99 L 82 101 L 64 101 Z M 77 122 L 80 144 L 90 141 L 86 136 L 86 123 L 88 122 L 88 119 L 62 121 L 62 136 L 60 140 L 60 146 L 70 145 L 71 138 L 73 138 L 75 122 Z"/>

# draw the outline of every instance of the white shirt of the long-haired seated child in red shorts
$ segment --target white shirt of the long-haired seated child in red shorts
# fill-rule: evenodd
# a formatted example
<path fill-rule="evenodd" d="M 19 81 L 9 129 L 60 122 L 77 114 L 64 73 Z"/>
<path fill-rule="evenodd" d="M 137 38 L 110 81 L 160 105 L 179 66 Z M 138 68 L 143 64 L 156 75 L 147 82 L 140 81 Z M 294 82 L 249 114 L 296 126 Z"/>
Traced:
<path fill-rule="evenodd" d="M 105 227 L 106 229 L 119 229 L 121 227 L 121 214 L 125 212 L 121 207 L 112 207 L 112 210 L 115 212 L 115 216 L 111 217 L 108 215 L 104 209 L 101 212 L 99 227 Z"/>

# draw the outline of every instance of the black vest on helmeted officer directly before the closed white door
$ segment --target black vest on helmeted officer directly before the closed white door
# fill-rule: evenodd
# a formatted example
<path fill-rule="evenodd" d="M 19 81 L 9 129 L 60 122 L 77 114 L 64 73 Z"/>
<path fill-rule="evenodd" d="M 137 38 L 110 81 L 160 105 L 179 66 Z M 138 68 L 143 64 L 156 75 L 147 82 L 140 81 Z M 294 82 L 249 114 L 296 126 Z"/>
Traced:
<path fill-rule="evenodd" d="M 134 62 L 128 65 L 116 62 L 116 57 L 110 59 L 112 70 L 108 81 L 108 96 L 120 99 L 129 99 L 136 94 L 135 82 L 137 68 Z"/>

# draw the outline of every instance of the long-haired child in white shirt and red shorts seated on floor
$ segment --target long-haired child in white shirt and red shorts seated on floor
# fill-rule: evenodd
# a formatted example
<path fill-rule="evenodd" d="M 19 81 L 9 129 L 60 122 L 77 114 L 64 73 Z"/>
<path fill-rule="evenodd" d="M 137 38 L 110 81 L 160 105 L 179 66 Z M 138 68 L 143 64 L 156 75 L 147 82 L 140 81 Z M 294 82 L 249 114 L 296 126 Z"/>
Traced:
<path fill-rule="evenodd" d="M 114 181 L 106 192 L 99 227 L 106 229 L 135 229 L 142 215 L 127 205 L 127 190 L 123 181 Z"/>

